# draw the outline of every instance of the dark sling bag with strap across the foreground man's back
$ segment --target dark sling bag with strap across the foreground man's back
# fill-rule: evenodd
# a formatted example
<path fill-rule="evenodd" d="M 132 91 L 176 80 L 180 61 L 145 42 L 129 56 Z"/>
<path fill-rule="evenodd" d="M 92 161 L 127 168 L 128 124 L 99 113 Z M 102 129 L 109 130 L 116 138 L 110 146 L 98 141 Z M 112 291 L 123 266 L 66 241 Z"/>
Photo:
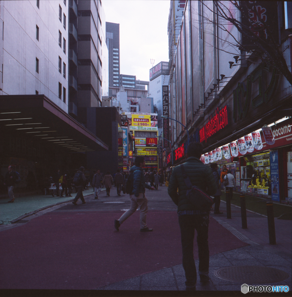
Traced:
<path fill-rule="evenodd" d="M 209 212 L 213 204 L 213 199 L 199 187 L 192 185 L 190 179 L 185 173 L 183 164 L 180 165 L 180 168 L 182 170 L 185 185 L 188 187 L 186 194 L 187 200 L 192 204 L 193 210 Z"/>

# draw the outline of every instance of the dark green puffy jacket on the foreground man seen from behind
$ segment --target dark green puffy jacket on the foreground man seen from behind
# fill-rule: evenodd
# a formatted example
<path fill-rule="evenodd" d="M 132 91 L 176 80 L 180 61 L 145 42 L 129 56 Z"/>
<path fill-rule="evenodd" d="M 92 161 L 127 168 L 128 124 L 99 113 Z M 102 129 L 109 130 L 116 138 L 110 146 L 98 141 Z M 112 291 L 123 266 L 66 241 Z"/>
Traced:
<path fill-rule="evenodd" d="M 204 165 L 201 160 L 196 157 L 189 157 L 186 162 L 183 163 L 183 166 L 192 185 L 199 187 L 209 195 L 215 195 L 217 185 L 209 166 Z M 175 166 L 169 180 L 168 195 L 177 205 L 177 212 L 193 209 L 191 203 L 186 199 L 186 192 L 187 186 L 183 180 L 180 165 Z"/>

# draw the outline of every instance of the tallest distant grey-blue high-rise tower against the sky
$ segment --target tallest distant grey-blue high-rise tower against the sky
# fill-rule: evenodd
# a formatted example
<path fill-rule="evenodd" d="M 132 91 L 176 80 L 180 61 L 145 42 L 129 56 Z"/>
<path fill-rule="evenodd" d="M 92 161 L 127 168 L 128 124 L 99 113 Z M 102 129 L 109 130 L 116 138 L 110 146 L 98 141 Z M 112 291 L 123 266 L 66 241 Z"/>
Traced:
<path fill-rule="evenodd" d="M 109 87 L 119 87 L 120 78 L 120 24 L 106 22 L 109 51 Z"/>

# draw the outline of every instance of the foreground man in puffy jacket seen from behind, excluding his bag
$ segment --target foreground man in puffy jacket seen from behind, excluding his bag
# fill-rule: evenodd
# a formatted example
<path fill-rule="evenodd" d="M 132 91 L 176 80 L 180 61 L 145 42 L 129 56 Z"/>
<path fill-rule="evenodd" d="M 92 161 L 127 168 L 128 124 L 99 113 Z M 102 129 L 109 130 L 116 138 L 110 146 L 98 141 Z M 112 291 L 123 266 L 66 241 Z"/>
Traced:
<path fill-rule="evenodd" d="M 187 148 L 187 160 L 184 163 L 185 173 L 192 185 L 195 185 L 209 195 L 214 195 L 217 185 L 209 166 L 204 165 L 200 158 L 203 151 L 201 143 L 190 143 Z M 178 193 L 177 193 L 178 188 Z M 188 201 L 182 170 L 180 165 L 172 170 L 169 180 L 168 194 L 177 205 L 178 221 L 180 224 L 183 248 L 183 268 L 185 270 L 186 290 L 196 290 L 197 272 L 193 255 L 193 241 L 197 230 L 199 252 L 199 275 L 201 282 L 210 280 L 209 274 L 209 246 L 208 225 L 209 212 L 194 210 Z"/>

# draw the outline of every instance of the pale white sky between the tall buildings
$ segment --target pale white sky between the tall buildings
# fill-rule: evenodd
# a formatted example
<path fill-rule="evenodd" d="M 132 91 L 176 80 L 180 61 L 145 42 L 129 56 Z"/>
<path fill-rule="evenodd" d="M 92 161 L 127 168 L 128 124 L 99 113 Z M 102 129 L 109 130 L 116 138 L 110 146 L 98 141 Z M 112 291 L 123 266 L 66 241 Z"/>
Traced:
<path fill-rule="evenodd" d="M 169 60 L 170 0 L 102 0 L 101 4 L 106 21 L 120 24 L 120 74 L 149 81 L 150 59 L 155 59 L 154 65 Z"/>

